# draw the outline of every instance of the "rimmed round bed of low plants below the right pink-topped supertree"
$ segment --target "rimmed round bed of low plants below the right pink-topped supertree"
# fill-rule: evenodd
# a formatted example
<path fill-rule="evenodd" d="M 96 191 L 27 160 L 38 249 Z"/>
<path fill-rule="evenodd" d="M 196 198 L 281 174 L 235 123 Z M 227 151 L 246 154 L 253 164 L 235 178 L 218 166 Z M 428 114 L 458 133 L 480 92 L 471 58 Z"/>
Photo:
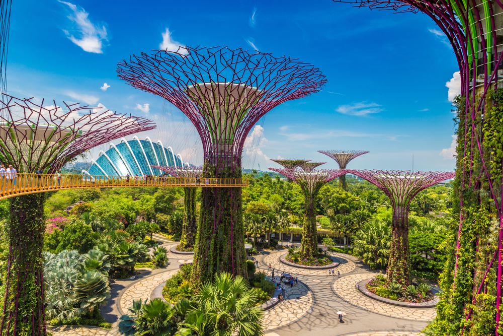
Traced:
<path fill-rule="evenodd" d="M 402 286 L 396 283 L 386 283 L 386 277 L 380 274 L 374 279 L 361 281 L 358 288 L 368 297 L 399 306 L 429 308 L 434 307 L 438 301 L 428 284 Z"/>

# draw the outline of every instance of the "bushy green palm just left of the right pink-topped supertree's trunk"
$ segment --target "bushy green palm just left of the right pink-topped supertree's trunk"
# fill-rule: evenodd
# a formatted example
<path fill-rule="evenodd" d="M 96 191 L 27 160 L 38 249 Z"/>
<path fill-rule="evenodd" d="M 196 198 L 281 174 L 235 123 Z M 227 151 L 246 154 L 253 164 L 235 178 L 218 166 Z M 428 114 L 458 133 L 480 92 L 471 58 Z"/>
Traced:
<path fill-rule="evenodd" d="M 353 252 L 371 268 L 384 268 L 391 246 L 390 224 L 372 219 L 355 234 Z"/>

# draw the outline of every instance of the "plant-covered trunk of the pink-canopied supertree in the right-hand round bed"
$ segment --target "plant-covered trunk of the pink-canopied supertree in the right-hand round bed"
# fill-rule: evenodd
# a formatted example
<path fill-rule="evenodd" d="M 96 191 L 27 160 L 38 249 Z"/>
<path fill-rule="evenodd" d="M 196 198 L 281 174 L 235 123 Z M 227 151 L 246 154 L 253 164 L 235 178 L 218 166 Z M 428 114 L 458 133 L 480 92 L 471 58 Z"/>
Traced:
<path fill-rule="evenodd" d="M 406 286 L 410 283 L 407 207 L 393 208 L 391 230 L 391 249 L 386 271 L 387 281 Z"/>

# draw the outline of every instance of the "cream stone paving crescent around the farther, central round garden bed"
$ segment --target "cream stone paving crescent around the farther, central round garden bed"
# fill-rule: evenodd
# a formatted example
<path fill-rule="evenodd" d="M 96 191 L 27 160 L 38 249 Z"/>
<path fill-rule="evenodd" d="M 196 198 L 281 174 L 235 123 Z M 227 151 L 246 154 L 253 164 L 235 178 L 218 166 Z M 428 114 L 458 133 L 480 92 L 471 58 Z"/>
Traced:
<path fill-rule="evenodd" d="M 289 273 L 291 275 L 303 275 L 303 276 L 328 276 L 328 270 L 308 270 L 306 268 L 300 268 L 295 266 L 289 266 L 280 261 L 280 256 L 287 254 L 287 251 L 282 252 L 273 252 L 269 255 L 266 255 L 263 259 L 264 264 L 274 268 L 275 275 L 281 275 L 281 272 Z M 330 253 L 331 256 L 334 256 L 341 263 L 339 266 L 334 268 L 336 274 L 337 271 L 341 273 L 341 275 L 352 272 L 356 265 L 353 261 L 344 258 L 341 254 L 338 253 Z M 281 271 L 281 272 L 279 272 Z"/>

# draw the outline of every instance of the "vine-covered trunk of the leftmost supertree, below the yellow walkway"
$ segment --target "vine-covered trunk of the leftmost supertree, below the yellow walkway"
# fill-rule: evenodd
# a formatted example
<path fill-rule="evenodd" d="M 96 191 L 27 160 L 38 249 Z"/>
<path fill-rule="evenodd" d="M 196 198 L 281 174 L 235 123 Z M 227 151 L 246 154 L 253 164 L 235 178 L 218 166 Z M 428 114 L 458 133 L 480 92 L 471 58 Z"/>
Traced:
<path fill-rule="evenodd" d="M 44 193 L 11 198 L 7 263 L 2 274 L 0 334 L 45 335 L 43 295 Z"/>

